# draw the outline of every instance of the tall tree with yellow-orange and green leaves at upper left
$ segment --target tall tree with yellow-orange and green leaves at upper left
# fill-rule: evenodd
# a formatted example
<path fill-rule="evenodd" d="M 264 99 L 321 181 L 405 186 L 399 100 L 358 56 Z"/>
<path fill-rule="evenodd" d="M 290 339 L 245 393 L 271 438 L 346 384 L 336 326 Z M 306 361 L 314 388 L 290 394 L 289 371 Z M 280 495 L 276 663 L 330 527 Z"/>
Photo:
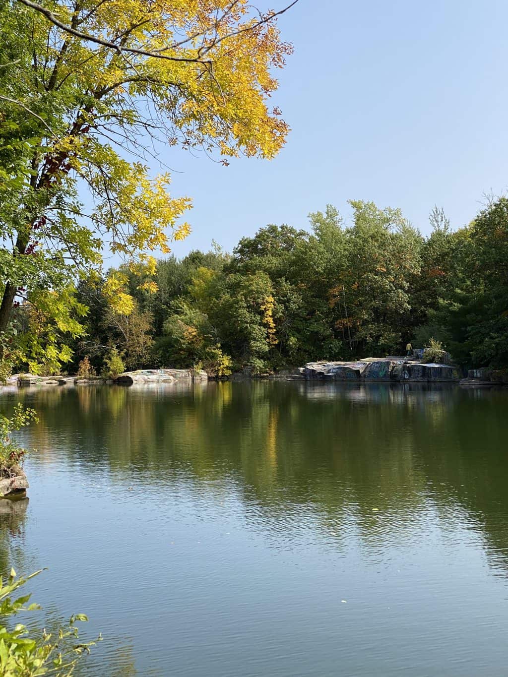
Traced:
<path fill-rule="evenodd" d="M 2 3 L 0 335 L 20 288 L 37 304 L 100 268 L 104 247 L 153 271 L 150 251 L 188 234 L 190 200 L 146 167 L 154 143 L 224 164 L 276 155 L 288 127 L 268 104 L 291 53 L 278 14 L 247 0 Z M 106 290 L 128 313 L 124 284 Z M 54 311 L 64 326 L 68 309 Z"/>

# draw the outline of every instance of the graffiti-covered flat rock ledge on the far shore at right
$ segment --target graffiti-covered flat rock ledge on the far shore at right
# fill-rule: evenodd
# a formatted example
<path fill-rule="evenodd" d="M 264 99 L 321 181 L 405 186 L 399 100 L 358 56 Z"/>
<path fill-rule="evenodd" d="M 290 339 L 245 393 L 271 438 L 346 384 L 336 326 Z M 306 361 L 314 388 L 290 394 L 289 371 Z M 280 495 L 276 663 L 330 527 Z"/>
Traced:
<path fill-rule="evenodd" d="M 325 381 L 458 381 L 457 370 L 448 364 L 421 364 L 404 359 L 360 359 L 358 362 L 309 362 L 306 380 Z"/>

